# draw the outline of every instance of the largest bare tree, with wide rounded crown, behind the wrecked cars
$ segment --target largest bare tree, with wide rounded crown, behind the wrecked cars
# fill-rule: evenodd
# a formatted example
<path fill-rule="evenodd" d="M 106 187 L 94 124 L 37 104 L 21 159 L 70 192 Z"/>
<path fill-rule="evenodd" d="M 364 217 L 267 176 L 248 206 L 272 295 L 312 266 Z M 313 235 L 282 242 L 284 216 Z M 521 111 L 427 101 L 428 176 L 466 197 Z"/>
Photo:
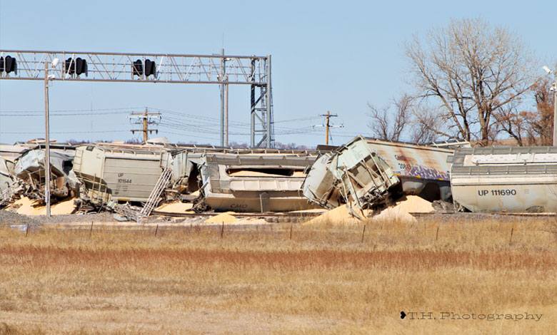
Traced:
<path fill-rule="evenodd" d="M 453 19 L 430 31 L 425 43 L 414 36 L 406 56 L 417 96 L 437 105 L 438 120 L 447 125 L 446 132 L 436 133 L 488 145 L 493 112 L 533 82 L 528 49 L 516 33 L 483 19 Z"/>

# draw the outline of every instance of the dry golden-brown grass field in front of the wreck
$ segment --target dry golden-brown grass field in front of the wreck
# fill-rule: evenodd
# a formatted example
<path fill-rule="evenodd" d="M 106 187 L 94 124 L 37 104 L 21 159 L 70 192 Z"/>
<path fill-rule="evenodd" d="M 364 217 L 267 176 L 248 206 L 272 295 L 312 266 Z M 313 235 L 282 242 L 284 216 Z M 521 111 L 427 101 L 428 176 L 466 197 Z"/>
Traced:
<path fill-rule="evenodd" d="M 0 334 L 554 334 L 555 222 L 2 227 Z"/>

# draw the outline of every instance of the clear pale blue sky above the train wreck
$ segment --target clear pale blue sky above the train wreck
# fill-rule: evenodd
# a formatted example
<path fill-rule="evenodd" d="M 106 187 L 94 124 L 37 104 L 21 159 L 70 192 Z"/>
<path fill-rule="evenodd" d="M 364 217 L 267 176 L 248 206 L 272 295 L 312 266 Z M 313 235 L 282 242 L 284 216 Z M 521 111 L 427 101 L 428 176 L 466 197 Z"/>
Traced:
<path fill-rule="evenodd" d="M 463 17 L 516 31 L 541 65 L 557 58 L 557 1 L 0 0 L 0 49 L 270 54 L 276 141 L 324 143 L 312 126 L 330 110 L 344 125 L 332 130 L 338 145 L 371 135 L 368 103 L 411 90 L 404 41 Z M 249 143 L 249 94 L 230 88 L 231 141 Z M 180 128 L 160 126 L 153 137 L 220 142 L 216 85 L 54 82 L 49 97 L 59 141 L 129 140 L 127 115 L 149 107 Z M 42 81 L 0 80 L 0 143 L 44 138 L 43 111 Z"/>

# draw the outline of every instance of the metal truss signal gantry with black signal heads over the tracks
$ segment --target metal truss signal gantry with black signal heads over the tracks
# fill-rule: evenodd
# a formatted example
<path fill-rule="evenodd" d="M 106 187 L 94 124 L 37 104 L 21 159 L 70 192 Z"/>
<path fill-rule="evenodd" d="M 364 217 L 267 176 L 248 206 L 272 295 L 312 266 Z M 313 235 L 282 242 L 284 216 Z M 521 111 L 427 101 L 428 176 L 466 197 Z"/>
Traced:
<path fill-rule="evenodd" d="M 16 71 L 0 71 L 0 79 L 44 81 L 44 62 L 54 81 L 106 81 L 129 83 L 209 83 L 251 86 L 251 146 L 274 146 L 271 99 L 271 56 L 179 55 L 168 53 L 98 53 L 74 51 L 0 50 L 0 57 L 16 59 Z M 79 59 L 86 71 L 76 71 Z M 141 61 L 141 68 L 134 62 Z M 146 61 L 154 62 L 146 76 Z M 144 71 L 145 69 L 145 71 Z M 140 70 L 140 71 L 139 71 Z M 221 99 L 223 98 L 221 94 Z M 221 145 L 224 133 L 224 103 L 221 103 Z"/>

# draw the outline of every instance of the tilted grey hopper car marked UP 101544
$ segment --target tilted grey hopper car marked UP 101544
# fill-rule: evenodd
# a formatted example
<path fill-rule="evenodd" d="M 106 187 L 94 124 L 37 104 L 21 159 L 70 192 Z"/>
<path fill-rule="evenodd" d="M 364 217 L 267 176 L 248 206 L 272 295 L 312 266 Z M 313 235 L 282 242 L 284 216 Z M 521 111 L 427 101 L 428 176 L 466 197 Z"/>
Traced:
<path fill-rule="evenodd" d="M 81 145 L 76 148 L 74 172 L 81 197 L 92 205 L 106 202 L 146 202 L 171 154 L 161 147 Z"/>

